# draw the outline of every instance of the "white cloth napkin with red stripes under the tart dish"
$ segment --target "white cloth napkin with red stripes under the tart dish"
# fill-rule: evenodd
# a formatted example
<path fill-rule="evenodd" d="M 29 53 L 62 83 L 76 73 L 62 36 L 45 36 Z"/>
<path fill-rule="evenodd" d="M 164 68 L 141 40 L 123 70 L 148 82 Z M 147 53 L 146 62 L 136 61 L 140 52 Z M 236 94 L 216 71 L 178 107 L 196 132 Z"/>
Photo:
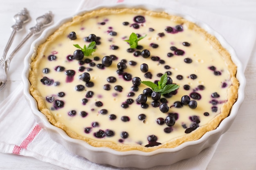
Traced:
<path fill-rule="evenodd" d="M 138 3 L 137 0 L 82 0 L 79 9 L 88 9 L 99 4 Z M 153 4 L 170 7 L 179 12 L 192 15 L 209 24 L 230 42 L 236 49 L 244 68 L 249 60 L 256 40 L 255 25 L 206 11 L 199 11 L 169 0 L 140 0 L 140 4 Z M 241 31 L 244 29 L 246 31 Z M 0 152 L 34 157 L 69 170 L 135 170 L 136 168 L 116 168 L 92 163 L 74 155 L 63 146 L 54 142 L 45 129 L 36 123 L 33 114 L 23 96 L 23 85 L 17 87 L 9 97 L 0 103 Z M 211 160 L 220 139 L 212 147 L 203 150 L 196 157 L 186 159 L 171 166 L 158 166 L 152 170 L 205 170 Z"/>

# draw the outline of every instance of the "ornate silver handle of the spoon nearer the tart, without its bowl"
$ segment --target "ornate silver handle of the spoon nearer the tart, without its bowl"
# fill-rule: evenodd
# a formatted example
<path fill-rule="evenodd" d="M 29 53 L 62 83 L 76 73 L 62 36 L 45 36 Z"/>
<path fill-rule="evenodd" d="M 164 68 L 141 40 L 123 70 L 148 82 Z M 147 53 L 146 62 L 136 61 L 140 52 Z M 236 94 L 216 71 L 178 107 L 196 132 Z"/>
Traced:
<path fill-rule="evenodd" d="M 13 50 L 13 52 L 9 55 L 9 57 L 5 61 L 6 71 L 9 69 L 10 62 L 13 58 L 13 56 L 16 54 L 16 52 L 20 49 L 20 47 L 25 44 L 25 42 L 32 36 L 40 33 L 43 29 L 43 27 L 48 26 L 52 23 L 52 12 L 49 11 L 48 13 L 45 13 L 45 15 L 42 15 L 38 18 L 36 18 L 36 25 L 31 27 L 29 29 L 29 33 L 26 35 L 26 37 L 18 44 L 16 49 Z"/>

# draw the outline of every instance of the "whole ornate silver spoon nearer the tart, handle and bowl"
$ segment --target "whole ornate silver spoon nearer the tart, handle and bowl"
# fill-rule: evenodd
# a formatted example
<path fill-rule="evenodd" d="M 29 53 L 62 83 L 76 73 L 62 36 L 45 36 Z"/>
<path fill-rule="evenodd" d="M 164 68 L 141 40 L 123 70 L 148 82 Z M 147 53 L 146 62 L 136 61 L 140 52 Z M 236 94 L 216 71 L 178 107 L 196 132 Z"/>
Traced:
<path fill-rule="evenodd" d="M 13 52 L 9 55 L 9 57 L 7 59 L 5 59 L 5 57 L 1 58 L 0 60 L 0 90 L 2 88 L 4 88 L 4 86 L 6 85 L 8 76 L 8 70 L 9 70 L 9 66 L 10 66 L 10 62 L 13 58 L 13 56 L 16 54 L 16 52 L 20 49 L 20 47 L 25 44 L 25 42 L 32 36 L 32 35 L 36 35 L 38 33 L 40 33 L 43 29 L 43 27 L 48 26 L 49 24 L 52 23 L 52 12 L 49 11 L 48 13 L 45 13 L 45 15 L 42 15 L 38 18 L 36 18 L 36 25 L 31 27 L 29 29 L 29 33 L 26 35 L 26 37 L 20 42 L 20 44 L 18 44 L 18 46 L 16 47 L 16 49 L 13 50 Z M 8 43 L 7 43 L 8 44 Z"/>

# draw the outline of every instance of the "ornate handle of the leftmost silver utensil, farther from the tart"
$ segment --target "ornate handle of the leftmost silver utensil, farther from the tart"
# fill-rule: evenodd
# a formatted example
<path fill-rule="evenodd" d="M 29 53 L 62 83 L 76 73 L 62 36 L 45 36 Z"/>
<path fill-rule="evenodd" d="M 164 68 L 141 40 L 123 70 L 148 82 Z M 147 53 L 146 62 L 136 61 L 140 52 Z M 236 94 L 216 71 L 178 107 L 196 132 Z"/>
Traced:
<path fill-rule="evenodd" d="M 11 32 L 11 36 L 7 42 L 7 45 L 4 48 L 4 52 L 3 55 L 0 59 L 1 62 L 3 62 L 5 60 L 5 57 L 7 55 L 7 52 L 11 46 L 11 43 L 13 42 L 13 38 L 14 35 L 16 34 L 16 32 L 20 31 L 23 27 L 23 24 L 29 21 L 29 13 L 27 11 L 27 9 L 22 9 L 20 11 L 20 13 L 17 13 L 16 15 L 14 15 L 13 19 L 15 20 L 15 24 L 13 26 L 11 26 L 12 32 Z"/>

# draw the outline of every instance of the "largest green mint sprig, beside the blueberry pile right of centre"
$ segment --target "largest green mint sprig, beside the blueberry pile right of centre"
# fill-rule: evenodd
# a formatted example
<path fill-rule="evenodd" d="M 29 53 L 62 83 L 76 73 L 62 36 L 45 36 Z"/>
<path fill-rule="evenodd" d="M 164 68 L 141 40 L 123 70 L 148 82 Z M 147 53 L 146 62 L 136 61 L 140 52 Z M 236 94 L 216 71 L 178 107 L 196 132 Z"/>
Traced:
<path fill-rule="evenodd" d="M 153 91 L 161 93 L 161 95 L 170 93 L 177 90 L 180 86 L 177 84 L 166 84 L 167 83 L 167 74 L 161 76 L 157 84 L 150 81 L 141 81 L 142 84 L 149 86 Z"/>

